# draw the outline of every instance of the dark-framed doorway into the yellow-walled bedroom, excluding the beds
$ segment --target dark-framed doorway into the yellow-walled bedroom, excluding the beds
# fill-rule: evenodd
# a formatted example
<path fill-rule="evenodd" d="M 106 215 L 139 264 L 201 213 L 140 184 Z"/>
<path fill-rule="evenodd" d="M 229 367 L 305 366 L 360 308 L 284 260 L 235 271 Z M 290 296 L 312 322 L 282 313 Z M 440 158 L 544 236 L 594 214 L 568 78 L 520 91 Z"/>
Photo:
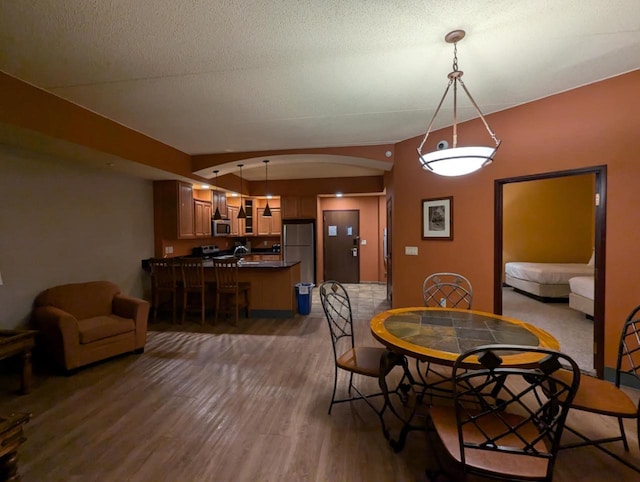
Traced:
<path fill-rule="evenodd" d="M 494 187 L 494 311 L 549 331 L 584 371 L 601 377 L 606 166 L 500 179 Z M 569 306 L 568 283 L 562 293 L 555 291 L 557 286 L 544 285 L 544 280 L 530 285 L 524 281 L 518 289 L 504 285 L 507 262 L 586 265 L 592 255 L 596 273 L 592 319 Z M 546 296 L 549 288 L 552 294 Z"/>

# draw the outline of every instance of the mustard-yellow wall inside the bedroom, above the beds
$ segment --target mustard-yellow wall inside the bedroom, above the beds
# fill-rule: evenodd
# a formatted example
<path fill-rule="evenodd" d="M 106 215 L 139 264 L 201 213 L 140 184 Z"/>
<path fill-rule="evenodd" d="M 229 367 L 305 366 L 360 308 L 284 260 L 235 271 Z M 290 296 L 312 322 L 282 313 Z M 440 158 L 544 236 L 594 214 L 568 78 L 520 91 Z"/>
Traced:
<path fill-rule="evenodd" d="M 586 263 L 595 234 L 595 176 L 541 179 L 503 189 L 503 262 Z"/>

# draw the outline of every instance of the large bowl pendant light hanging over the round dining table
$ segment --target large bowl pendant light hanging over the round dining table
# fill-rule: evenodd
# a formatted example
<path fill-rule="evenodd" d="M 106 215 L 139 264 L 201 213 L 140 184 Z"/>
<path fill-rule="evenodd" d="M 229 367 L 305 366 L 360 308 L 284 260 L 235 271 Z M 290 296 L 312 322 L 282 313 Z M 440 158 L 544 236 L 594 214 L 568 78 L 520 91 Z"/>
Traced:
<path fill-rule="evenodd" d="M 491 164 L 493 161 L 493 156 L 495 156 L 498 147 L 500 147 L 500 142 L 494 132 L 489 127 L 487 120 L 480 112 L 480 108 L 478 104 L 476 104 L 473 97 L 467 90 L 467 87 L 462 82 L 462 74 L 461 70 L 458 70 L 458 42 L 462 40 L 465 36 L 464 30 L 454 30 L 445 35 L 444 39 L 447 43 L 453 44 L 453 71 L 449 73 L 449 83 L 447 84 L 447 88 L 444 91 L 444 95 L 442 99 L 440 99 L 440 103 L 436 108 L 435 114 L 433 114 L 433 118 L 429 123 L 429 127 L 427 127 L 427 133 L 422 139 L 422 143 L 420 147 L 418 147 L 418 158 L 420 163 L 422 164 L 422 168 L 431 171 L 435 174 L 439 174 L 441 176 L 462 176 L 464 174 L 469 174 L 478 169 L 486 166 L 487 164 Z M 451 148 L 449 149 L 448 143 L 446 141 L 441 141 L 438 143 L 437 149 L 433 152 L 428 152 L 426 154 L 422 154 L 422 147 L 427 141 L 427 137 L 429 137 L 429 133 L 431 132 L 431 127 L 433 126 L 433 122 L 440 111 L 440 107 L 442 107 L 442 103 L 444 99 L 447 97 L 447 93 L 449 92 L 449 88 L 453 84 L 453 142 Z M 458 118 L 457 118 L 457 108 L 458 108 L 458 84 L 464 90 L 464 93 L 467 94 L 469 100 L 475 107 L 476 111 L 480 115 L 480 119 L 484 123 L 489 136 L 495 142 L 495 147 L 486 147 L 486 146 L 468 146 L 468 147 L 458 147 Z"/>

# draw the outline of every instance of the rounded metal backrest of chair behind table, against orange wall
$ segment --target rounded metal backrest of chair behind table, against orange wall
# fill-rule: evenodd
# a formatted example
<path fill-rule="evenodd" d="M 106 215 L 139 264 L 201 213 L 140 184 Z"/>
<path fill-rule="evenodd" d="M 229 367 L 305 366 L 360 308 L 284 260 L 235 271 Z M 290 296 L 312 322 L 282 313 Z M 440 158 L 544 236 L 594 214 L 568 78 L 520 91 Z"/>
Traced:
<path fill-rule="evenodd" d="M 422 283 L 424 306 L 471 309 L 471 282 L 457 273 L 433 273 Z"/>

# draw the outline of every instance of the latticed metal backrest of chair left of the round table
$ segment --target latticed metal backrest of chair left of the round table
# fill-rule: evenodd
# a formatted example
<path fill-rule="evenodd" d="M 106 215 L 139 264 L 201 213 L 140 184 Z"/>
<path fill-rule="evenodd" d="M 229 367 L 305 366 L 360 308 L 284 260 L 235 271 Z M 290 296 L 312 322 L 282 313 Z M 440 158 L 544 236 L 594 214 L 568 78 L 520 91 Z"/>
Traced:
<path fill-rule="evenodd" d="M 354 347 L 351 301 L 347 290 L 338 281 L 325 281 L 318 291 L 329 324 L 334 358 L 337 359 L 347 349 Z"/>

